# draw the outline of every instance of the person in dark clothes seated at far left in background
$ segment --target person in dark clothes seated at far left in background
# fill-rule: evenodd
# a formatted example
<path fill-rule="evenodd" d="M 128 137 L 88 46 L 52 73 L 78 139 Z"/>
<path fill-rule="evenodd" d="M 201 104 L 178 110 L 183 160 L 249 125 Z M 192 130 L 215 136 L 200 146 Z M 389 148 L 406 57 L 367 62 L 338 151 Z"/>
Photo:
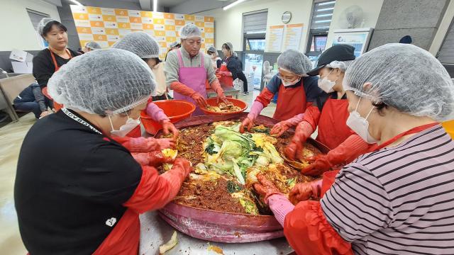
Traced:
<path fill-rule="evenodd" d="M 33 112 L 35 118 L 52 113 L 52 111 L 48 111 L 48 108 L 52 108 L 52 102 L 41 93 L 38 84 L 30 84 L 23 89 L 21 94 L 14 98 L 13 106 L 18 111 Z"/>

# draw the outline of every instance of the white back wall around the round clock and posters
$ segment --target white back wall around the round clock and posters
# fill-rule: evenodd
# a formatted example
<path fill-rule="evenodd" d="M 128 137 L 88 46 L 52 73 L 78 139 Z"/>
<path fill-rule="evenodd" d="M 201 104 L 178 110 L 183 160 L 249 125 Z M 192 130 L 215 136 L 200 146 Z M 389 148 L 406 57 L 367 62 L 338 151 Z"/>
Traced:
<path fill-rule="evenodd" d="M 307 30 L 311 18 L 312 0 L 253 0 L 223 11 L 216 9 L 197 13 L 198 15 L 214 16 L 215 47 L 220 50 L 224 42 L 232 42 L 234 50 L 243 50 L 243 13 L 268 10 L 267 33 L 270 26 L 282 25 L 281 16 L 284 11 L 292 12 L 289 23 L 304 23 L 300 50 L 306 48 Z"/>

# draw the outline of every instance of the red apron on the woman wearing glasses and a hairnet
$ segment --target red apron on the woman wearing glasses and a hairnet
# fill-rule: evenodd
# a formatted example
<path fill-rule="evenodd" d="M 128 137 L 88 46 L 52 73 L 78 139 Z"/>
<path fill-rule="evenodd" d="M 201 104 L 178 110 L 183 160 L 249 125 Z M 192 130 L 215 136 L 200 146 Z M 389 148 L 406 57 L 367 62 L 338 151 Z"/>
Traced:
<path fill-rule="evenodd" d="M 302 79 L 301 86 L 294 88 L 286 88 L 281 83 L 278 93 L 275 115 L 272 116 L 275 120 L 288 120 L 306 111 L 306 92 Z"/>

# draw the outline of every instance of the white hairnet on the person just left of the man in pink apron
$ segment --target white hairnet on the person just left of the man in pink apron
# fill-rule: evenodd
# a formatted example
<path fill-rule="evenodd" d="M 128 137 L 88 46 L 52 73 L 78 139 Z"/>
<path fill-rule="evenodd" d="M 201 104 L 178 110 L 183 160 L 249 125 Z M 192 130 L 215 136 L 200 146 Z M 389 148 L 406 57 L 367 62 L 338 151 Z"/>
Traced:
<path fill-rule="evenodd" d="M 142 59 L 159 57 L 159 43 L 155 38 L 142 31 L 128 33 L 112 45 L 115 49 L 128 50 Z"/>

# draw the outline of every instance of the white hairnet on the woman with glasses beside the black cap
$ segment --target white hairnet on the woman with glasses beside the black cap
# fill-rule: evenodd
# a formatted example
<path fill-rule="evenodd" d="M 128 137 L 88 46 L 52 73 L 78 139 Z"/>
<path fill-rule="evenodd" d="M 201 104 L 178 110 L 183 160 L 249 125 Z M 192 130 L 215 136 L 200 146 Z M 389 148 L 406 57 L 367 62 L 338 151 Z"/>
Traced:
<path fill-rule="evenodd" d="M 305 75 L 312 69 L 311 60 L 297 50 L 286 50 L 277 57 L 277 65 L 297 75 Z"/>

